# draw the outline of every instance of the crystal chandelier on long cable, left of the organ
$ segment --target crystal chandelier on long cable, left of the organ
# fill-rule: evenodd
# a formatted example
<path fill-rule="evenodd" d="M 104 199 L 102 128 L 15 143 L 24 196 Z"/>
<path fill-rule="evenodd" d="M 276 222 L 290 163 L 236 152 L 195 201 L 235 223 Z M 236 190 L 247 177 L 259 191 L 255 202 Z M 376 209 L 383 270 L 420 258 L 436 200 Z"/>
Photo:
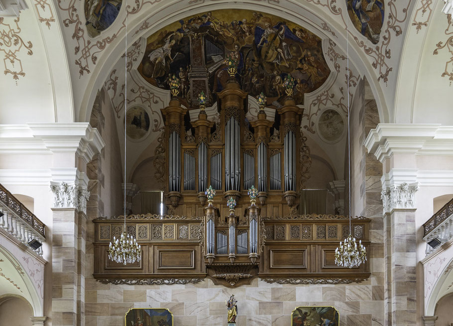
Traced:
<path fill-rule="evenodd" d="M 124 100 L 124 121 L 126 119 L 127 105 L 127 16 L 126 16 L 126 38 L 124 48 L 124 80 L 125 80 L 125 100 Z M 109 245 L 109 259 L 117 263 L 131 264 L 140 261 L 141 246 L 135 240 L 135 237 L 127 234 L 126 231 L 126 125 L 124 123 L 124 231 L 117 239 L 113 236 L 113 243 Z"/>

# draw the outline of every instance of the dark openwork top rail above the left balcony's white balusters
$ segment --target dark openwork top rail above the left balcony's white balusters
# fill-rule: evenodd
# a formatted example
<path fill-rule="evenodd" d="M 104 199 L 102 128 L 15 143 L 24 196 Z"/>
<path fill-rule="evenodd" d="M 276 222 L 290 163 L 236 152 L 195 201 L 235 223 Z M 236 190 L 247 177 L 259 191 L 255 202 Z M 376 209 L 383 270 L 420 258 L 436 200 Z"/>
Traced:
<path fill-rule="evenodd" d="M 22 222 L 45 239 L 45 224 L 0 184 L 0 205 L 9 208 Z"/>

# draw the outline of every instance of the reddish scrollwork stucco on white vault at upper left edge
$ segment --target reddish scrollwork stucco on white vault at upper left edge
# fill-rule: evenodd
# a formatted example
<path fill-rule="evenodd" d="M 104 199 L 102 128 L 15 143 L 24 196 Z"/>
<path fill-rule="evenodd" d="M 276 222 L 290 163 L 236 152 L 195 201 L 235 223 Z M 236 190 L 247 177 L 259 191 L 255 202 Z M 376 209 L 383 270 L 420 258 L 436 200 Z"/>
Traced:
<path fill-rule="evenodd" d="M 25 77 L 22 67 L 23 54 L 32 55 L 33 44 L 30 41 L 22 40 L 20 36 L 19 17 L 0 17 L 0 53 L 3 56 L 4 74 L 11 74 L 16 81 Z"/>

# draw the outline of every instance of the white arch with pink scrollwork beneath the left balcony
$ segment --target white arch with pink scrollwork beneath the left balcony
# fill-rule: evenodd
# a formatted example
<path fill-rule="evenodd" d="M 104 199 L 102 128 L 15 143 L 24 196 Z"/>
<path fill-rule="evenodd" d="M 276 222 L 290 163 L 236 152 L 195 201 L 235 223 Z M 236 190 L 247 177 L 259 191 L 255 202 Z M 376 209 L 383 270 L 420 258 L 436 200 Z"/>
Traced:
<path fill-rule="evenodd" d="M 5 241 L 1 241 L 3 244 Z M 11 244 L 14 246 L 14 244 Z M 21 250 L 17 248 L 18 250 Z M 22 297 L 23 300 L 29 303 L 33 316 L 43 316 L 43 283 L 36 284 L 29 273 L 27 265 L 21 263 L 10 250 L 0 245 L 0 259 L 1 262 L 1 274 L 0 282 L 3 282 L 3 286 L 0 286 L 0 298 L 14 295 L 16 297 Z M 28 254 L 21 255 L 24 258 L 24 263 L 30 262 L 33 259 Z M 33 271 L 35 272 L 35 271 Z M 0 283 L 1 284 L 1 283 Z M 41 293 L 38 293 L 37 286 L 41 287 Z"/>

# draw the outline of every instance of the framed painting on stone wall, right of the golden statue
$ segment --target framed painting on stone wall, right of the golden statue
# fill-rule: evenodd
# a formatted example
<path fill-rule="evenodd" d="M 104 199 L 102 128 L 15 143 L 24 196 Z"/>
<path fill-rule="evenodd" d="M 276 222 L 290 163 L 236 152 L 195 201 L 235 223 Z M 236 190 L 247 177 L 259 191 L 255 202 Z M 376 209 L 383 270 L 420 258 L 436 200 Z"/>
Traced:
<path fill-rule="evenodd" d="M 291 326 L 339 326 L 340 316 L 334 307 L 297 307 L 291 313 Z"/>

